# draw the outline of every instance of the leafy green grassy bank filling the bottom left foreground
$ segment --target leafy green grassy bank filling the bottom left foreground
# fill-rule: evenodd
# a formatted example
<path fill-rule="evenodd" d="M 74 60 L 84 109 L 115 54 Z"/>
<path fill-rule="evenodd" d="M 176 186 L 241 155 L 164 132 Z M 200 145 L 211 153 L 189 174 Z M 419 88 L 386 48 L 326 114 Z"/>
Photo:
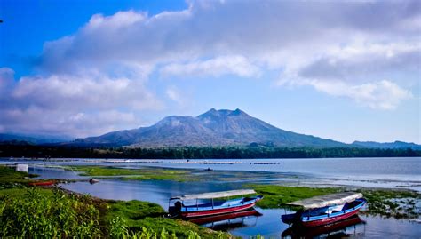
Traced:
<path fill-rule="evenodd" d="M 106 201 L 28 187 L 28 173 L 0 166 L 0 237 L 232 238 L 179 219 L 155 203 Z M 3 174 L 4 173 L 4 174 Z"/>

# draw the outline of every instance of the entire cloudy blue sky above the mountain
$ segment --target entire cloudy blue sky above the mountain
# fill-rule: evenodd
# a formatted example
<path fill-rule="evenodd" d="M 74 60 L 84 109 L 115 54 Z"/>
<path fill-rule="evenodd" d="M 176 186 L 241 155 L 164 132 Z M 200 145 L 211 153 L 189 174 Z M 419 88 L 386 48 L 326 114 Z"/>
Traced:
<path fill-rule="evenodd" d="M 0 132 L 241 108 L 346 143 L 421 143 L 421 1 L 0 0 L 0 19 Z"/>

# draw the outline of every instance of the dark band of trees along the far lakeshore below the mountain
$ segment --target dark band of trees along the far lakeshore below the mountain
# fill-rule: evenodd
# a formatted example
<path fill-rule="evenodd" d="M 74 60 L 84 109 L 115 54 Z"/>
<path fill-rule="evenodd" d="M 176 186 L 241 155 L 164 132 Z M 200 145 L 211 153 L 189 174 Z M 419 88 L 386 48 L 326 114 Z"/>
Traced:
<path fill-rule="evenodd" d="M 0 157 L 89 157 L 89 158 L 324 158 L 421 156 L 411 148 L 364 147 L 63 147 L 0 145 Z"/>

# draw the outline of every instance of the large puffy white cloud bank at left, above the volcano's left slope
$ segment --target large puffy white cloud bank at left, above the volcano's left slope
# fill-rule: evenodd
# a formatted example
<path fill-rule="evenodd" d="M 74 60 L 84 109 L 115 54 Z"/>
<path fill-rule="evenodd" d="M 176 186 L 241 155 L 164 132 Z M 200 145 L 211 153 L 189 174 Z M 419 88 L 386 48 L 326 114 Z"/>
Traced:
<path fill-rule="evenodd" d="M 22 77 L 0 104 L 2 131 L 78 137 L 139 127 L 133 112 L 163 108 L 143 80 L 95 72 Z"/>

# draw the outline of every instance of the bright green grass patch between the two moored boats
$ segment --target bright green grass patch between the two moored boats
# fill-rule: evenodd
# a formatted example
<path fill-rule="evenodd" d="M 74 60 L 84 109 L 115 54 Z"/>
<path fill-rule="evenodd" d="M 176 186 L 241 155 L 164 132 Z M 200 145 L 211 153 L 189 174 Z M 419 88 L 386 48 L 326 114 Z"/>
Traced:
<path fill-rule="evenodd" d="M 264 198 L 258 202 L 258 207 L 264 209 L 280 208 L 284 203 L 291 203 L 297 200 L 313 197 L 316 195 L 328 195 L 338 193 L 341 189 L 332 187 L 287 187 L 278 185 L 247 185 L 253 188 L 258 195 Z"/>

